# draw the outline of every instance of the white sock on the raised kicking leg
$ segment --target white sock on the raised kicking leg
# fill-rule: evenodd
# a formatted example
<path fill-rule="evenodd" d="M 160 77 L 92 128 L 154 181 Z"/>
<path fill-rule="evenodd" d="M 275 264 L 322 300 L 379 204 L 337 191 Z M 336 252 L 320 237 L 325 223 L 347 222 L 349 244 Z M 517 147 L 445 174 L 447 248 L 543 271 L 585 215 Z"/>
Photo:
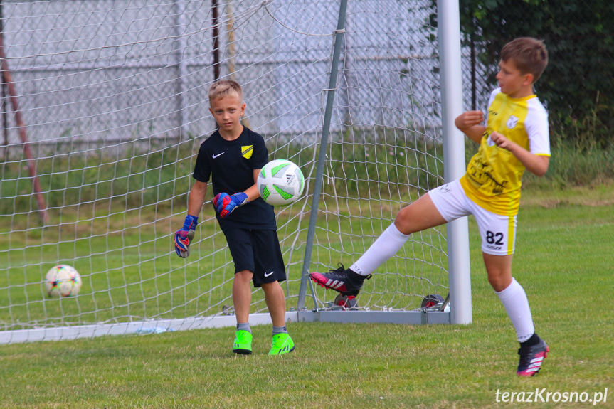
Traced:
<path fill-rule="evenodd" d="M 375 240 L 375 243 L 366 250 L 366 253 L 362 255 L 351 265 L 351 270 L 359 275 L 369 275 L 374 272 L 377 267 L 382 265 L 393 255 L 396 255 L 398 250 L 401 250 L 403 244 L 407 241 L 409 235 L 404 235 L 398 228 L 392 223 L 383 233 Z"/>

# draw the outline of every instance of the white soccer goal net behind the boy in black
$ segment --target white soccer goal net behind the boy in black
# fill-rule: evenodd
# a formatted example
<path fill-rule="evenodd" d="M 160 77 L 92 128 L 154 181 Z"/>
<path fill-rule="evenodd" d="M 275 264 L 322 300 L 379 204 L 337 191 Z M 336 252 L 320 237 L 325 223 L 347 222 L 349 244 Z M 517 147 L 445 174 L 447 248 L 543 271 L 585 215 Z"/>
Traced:
<path fill-rule="evenodd" d="M 303 272 L 351 265 L 444 175 L 430 1 L 350 1 L 342 30 L 340 3 L 3 1 L 0 341 L 234 324 L 234 265 L 212 206 L 188 259 L 171 242 L 216 129 L 217 79 L 243 85 L 243 124 L 269 159 L 305 174 L 305 195 L 275 209 L 288 313 L 334 309 L 337 293 Z M 366 281 L 359 311 L 445 297 L 446 238 L 445 227 L 413 235 Z M 75 297 L 48 297 L 60 264 L 80 273 Z M 251 312 L 268 316 L 261 290 Z"/>

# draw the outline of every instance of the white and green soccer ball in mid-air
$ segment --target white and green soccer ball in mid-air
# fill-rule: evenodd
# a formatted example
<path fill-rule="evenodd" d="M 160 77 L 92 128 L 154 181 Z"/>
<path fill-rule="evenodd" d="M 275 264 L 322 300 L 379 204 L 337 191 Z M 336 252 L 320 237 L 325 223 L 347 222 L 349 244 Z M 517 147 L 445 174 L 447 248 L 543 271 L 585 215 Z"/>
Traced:
<path fill-rule="evenodd" d="M 291 161 L 275 159 L 260 169 L 256 185 L 265 202 L 285 206 L 300 198 L 305 188 L 305 176 Z"/>

